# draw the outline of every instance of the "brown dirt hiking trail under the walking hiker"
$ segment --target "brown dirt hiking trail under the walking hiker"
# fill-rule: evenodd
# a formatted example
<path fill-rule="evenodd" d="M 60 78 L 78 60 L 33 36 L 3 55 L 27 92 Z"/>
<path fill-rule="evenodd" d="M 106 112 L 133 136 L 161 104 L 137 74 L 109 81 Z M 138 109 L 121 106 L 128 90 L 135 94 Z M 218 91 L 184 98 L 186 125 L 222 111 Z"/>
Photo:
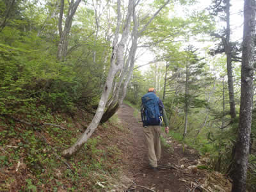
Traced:
<path fill-rule="evenodd" d="M 167 146 L 162 145 L 160 164 L 170 168 L 157 172 L 150 169 L 143 127 L 133 112 L 134 109 L 126 104 L 118 110 L 120 124 L 129 129 L 129 134 L 122 141 L 124 145 L 120 147 L 124 154 L 124 175 L 129 178 L 124 191 L 229 191 L 230 182 L 223 179 L 223 175 L 196 167 L 205 163 L 205 159 L 199 159 L 195 150 L 186 145 L 183 147 L 164 133 Z"/>

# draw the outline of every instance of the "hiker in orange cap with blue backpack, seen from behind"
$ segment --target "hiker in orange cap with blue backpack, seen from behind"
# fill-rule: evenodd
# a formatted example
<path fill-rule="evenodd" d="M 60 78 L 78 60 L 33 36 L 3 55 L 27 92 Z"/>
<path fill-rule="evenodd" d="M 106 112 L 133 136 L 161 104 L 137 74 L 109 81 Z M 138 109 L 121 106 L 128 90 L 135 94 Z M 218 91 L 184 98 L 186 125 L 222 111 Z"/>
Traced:
<path fill-rule="evenodd" d="M 148 144 L 148 163 L 156 171 L 157 161 L 161 158 L 161 125 L 164 122 L 165 132 L 168 133 L 169 124 L 163 102 L 156 96 L 155 88 L 149 88 L 141 101 L 141 120 Z"/>

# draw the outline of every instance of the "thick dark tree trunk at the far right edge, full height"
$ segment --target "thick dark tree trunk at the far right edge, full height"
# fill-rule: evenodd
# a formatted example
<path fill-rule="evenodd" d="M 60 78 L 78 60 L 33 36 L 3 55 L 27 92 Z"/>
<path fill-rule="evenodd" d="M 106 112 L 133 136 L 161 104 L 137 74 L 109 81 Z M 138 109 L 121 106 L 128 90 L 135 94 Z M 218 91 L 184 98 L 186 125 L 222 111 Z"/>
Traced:
<path fill-rule="evenodd" d="M 236 143 L 232 192 L 246 191 L 246 172 L 250 148 L 253 96 L 253 54 L 255 35 L 255 0 L 244 0 L 244 31 L 241 67 L 241 104 Z"/>

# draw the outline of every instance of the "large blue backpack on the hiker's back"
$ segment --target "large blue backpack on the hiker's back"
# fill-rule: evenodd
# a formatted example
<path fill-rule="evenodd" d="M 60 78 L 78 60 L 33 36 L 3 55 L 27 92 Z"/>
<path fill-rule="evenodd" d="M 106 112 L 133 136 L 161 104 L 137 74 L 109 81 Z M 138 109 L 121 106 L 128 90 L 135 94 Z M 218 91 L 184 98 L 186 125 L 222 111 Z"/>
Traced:
<path fill-rule="evenodd" d="M 148 92 L 141 97 L 141 120 L 143 127 L 148 125 L 161 125 L 161 114 L 159 111 L 159 98 L 153 92 Z"/>

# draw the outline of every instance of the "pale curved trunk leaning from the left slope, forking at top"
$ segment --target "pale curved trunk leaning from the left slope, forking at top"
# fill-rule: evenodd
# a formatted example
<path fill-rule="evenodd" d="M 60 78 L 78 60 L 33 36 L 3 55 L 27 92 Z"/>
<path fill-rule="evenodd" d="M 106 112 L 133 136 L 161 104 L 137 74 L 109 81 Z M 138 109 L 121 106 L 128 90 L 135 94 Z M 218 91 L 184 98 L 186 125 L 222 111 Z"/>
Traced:
<path fill-rule="evenodd" d="M 102 96 L 99 101 L 99 106 L 97 108 L 97 111 L 93 117 L 92 122 L 86 129 L 86 131 L 82 134 L 82 136 L 72 145 L 70 148 L 67 148 L 62 152 L 62 155 L 65 157 L 70 157 L 74 153 L 76 153 L 84 143 L 92 136 L 93 132 L 97 129 L 97 126 L 99 125 L 100 119 L 102 118 L 102 115 L 104 113 L 104 108 L 106 106 L 106 102 L 108 101 L 109 94 L 111 92 L 111 88 L 113 86 L 113 79 L 115 78 L 116 72 L 122 68 L 124 63 L 124 44 L 127 40 L 128 32 L 129 32 L 129 26 L 131 23 L 131 14 L 134 7 L 134 0 L 129 0 L 128 5 L 128 12 L 127 12 L 127 20 L 125 23 L 124 31 L 122 34 L 122 38 L 117 45 L 118 41 L 118 32 L 120 29 L 120 21 L 121 21 L 121 13 L 120 13 L 120 0 L 118 0 L 118 17 L 117 17 L 117 24 L 116 24 L 116 31 L 115 31 L 115 38 L 113 40 L 113 52 L 111 56 L 111 65 L 108 72 L 107 81 L 104 84 Z"/>

